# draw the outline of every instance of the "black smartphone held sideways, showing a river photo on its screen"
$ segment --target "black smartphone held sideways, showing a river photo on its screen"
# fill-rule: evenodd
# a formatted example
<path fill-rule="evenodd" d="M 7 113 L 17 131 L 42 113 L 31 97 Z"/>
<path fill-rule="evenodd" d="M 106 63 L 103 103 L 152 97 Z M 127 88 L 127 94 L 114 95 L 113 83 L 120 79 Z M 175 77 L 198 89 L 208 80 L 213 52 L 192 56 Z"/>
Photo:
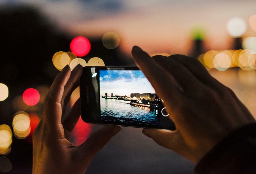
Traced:
<path fill-rule="evenodd" d="M 87 123 L 175 130 L 163 100 L 138 67 L 84 67 L 80 100 Z"/>

